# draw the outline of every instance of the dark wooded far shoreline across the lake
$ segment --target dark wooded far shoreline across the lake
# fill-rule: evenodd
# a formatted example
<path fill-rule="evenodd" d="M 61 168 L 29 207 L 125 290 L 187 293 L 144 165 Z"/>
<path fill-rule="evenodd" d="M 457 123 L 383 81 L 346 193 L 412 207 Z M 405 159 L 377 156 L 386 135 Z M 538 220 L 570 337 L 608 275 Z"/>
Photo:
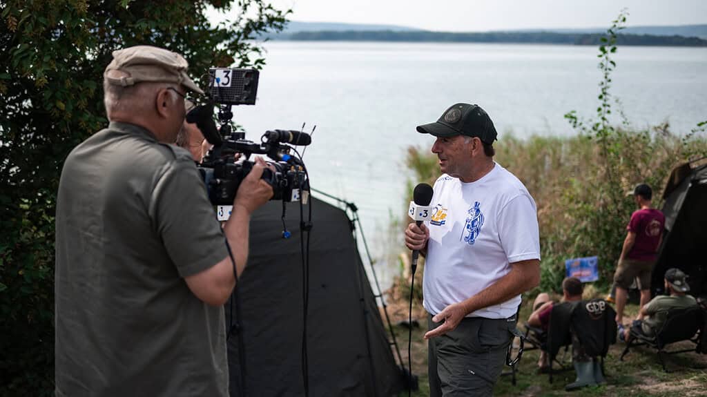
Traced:
<path fill-rule="evenodd" d="M 416 30 L 410 32 L 380 31 L 322 31 L 296 32 L 287 40 L 302 41 L 380 41 L 380 42 L 484 42 L 515 44 L 555 44 L 555 45 L 599 45 L 603 35 L 595 33 L 558 33 L 558 32 L 484 32 L 454 33 L 428 32 Z M 619 45 L 672 46 L 672 47 L 707 47 L 707 40 L 698 37 L 654 36 L 654 35 L 618 35 Z"/>

